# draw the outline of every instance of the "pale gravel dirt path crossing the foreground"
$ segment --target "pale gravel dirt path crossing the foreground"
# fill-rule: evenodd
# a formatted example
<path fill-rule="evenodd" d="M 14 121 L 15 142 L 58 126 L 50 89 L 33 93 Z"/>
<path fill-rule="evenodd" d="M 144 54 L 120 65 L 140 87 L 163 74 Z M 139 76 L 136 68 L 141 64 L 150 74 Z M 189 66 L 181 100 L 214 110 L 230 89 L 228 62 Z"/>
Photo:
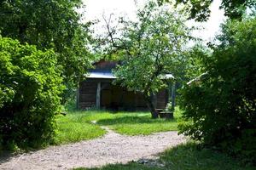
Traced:
<path fill-rule="evenodd" d="M 102 138 L 75 144 L 50 146 L 20 156 L 0 160 L 0 169 L 69 169 L 100 167 L 108 163 L 152 158 L 174 145 L 183 143 L 177 132 L 154 133 L 148 136 L 125 136 L 105 128 Z"/>

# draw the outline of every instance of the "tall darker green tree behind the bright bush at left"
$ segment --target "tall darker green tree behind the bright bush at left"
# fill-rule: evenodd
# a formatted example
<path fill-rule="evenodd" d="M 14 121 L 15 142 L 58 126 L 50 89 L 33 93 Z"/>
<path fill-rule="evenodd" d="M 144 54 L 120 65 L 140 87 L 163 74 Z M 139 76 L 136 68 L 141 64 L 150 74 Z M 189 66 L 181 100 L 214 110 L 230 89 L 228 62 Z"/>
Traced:
<path fill-rule="evenodd" d="M 66 92 L 78 85 L 90 66 L 88 26 L 82 24 L 81 0 L 3 0 L 0 2 L 0 33 L 36 45 L 40 50 L 54 49 Z M 63 95 L 67 98 L 67 93 Z"/>

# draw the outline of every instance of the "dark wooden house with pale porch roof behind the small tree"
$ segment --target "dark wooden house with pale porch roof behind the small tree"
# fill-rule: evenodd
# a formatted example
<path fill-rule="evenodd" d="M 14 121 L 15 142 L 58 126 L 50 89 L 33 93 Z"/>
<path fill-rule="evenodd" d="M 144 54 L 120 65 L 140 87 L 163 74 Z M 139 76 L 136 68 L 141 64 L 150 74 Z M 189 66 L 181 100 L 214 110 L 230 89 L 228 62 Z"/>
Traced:
<path fill-rule="evenodd" d="M 79 84 L 77 106 L 79 109 L 91 107 L 122 111 L 146 110 L 143 96 L 128 91 L 118 85 L 113 85 L 112 69 L 117 62 L 100 60 L 95 63 L 95 69 L 89 71 L 86 79 Z M 170 76 L 170 75 L 169 75 Z M 172 77 L 172 75 L 171 75 Z M 169 91 L 163 89 L 154 97 L 156 108 L 166 108 Z"/>

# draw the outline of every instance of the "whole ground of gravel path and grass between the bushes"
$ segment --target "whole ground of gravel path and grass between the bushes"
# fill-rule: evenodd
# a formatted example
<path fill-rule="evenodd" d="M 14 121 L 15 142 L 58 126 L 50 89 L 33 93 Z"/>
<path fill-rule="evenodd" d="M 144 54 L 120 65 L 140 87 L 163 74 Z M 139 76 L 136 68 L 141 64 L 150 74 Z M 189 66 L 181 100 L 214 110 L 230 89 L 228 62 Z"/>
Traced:
<path fill-rule="evenodd" d="M 53 146 L 0 156 L 0 169 L 256 169 L 195 142 L 183 144 L 186 139 L 177 135 L 180 115 L 177 109 L 168 121 L 152 120 L 148 112 L 69 112 L 57 117 Z"/>

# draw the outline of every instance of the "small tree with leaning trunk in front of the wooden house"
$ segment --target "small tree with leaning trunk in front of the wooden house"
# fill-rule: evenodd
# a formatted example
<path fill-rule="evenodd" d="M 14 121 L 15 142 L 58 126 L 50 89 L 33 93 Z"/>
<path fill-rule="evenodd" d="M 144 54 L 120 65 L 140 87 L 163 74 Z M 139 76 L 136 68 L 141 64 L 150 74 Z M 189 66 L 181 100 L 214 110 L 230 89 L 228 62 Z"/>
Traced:
<path fill-rule="evenodd" d="M 122 60 L 114 70 L 116 82 L 142 94 L 152 118 L 156 118 L 152 97 L 166 87 L 166 74 L 172 73 L 178 80 L 179 67 L 186 62 L 189 28 L 184 25 L 182 14 L 159 8 L 153 2 L 138 11 L 138 21 L 120 20 L 123 24 L 120 36 L 115 36 L 116 31 L 107 22 L 112 54 Z"/>

